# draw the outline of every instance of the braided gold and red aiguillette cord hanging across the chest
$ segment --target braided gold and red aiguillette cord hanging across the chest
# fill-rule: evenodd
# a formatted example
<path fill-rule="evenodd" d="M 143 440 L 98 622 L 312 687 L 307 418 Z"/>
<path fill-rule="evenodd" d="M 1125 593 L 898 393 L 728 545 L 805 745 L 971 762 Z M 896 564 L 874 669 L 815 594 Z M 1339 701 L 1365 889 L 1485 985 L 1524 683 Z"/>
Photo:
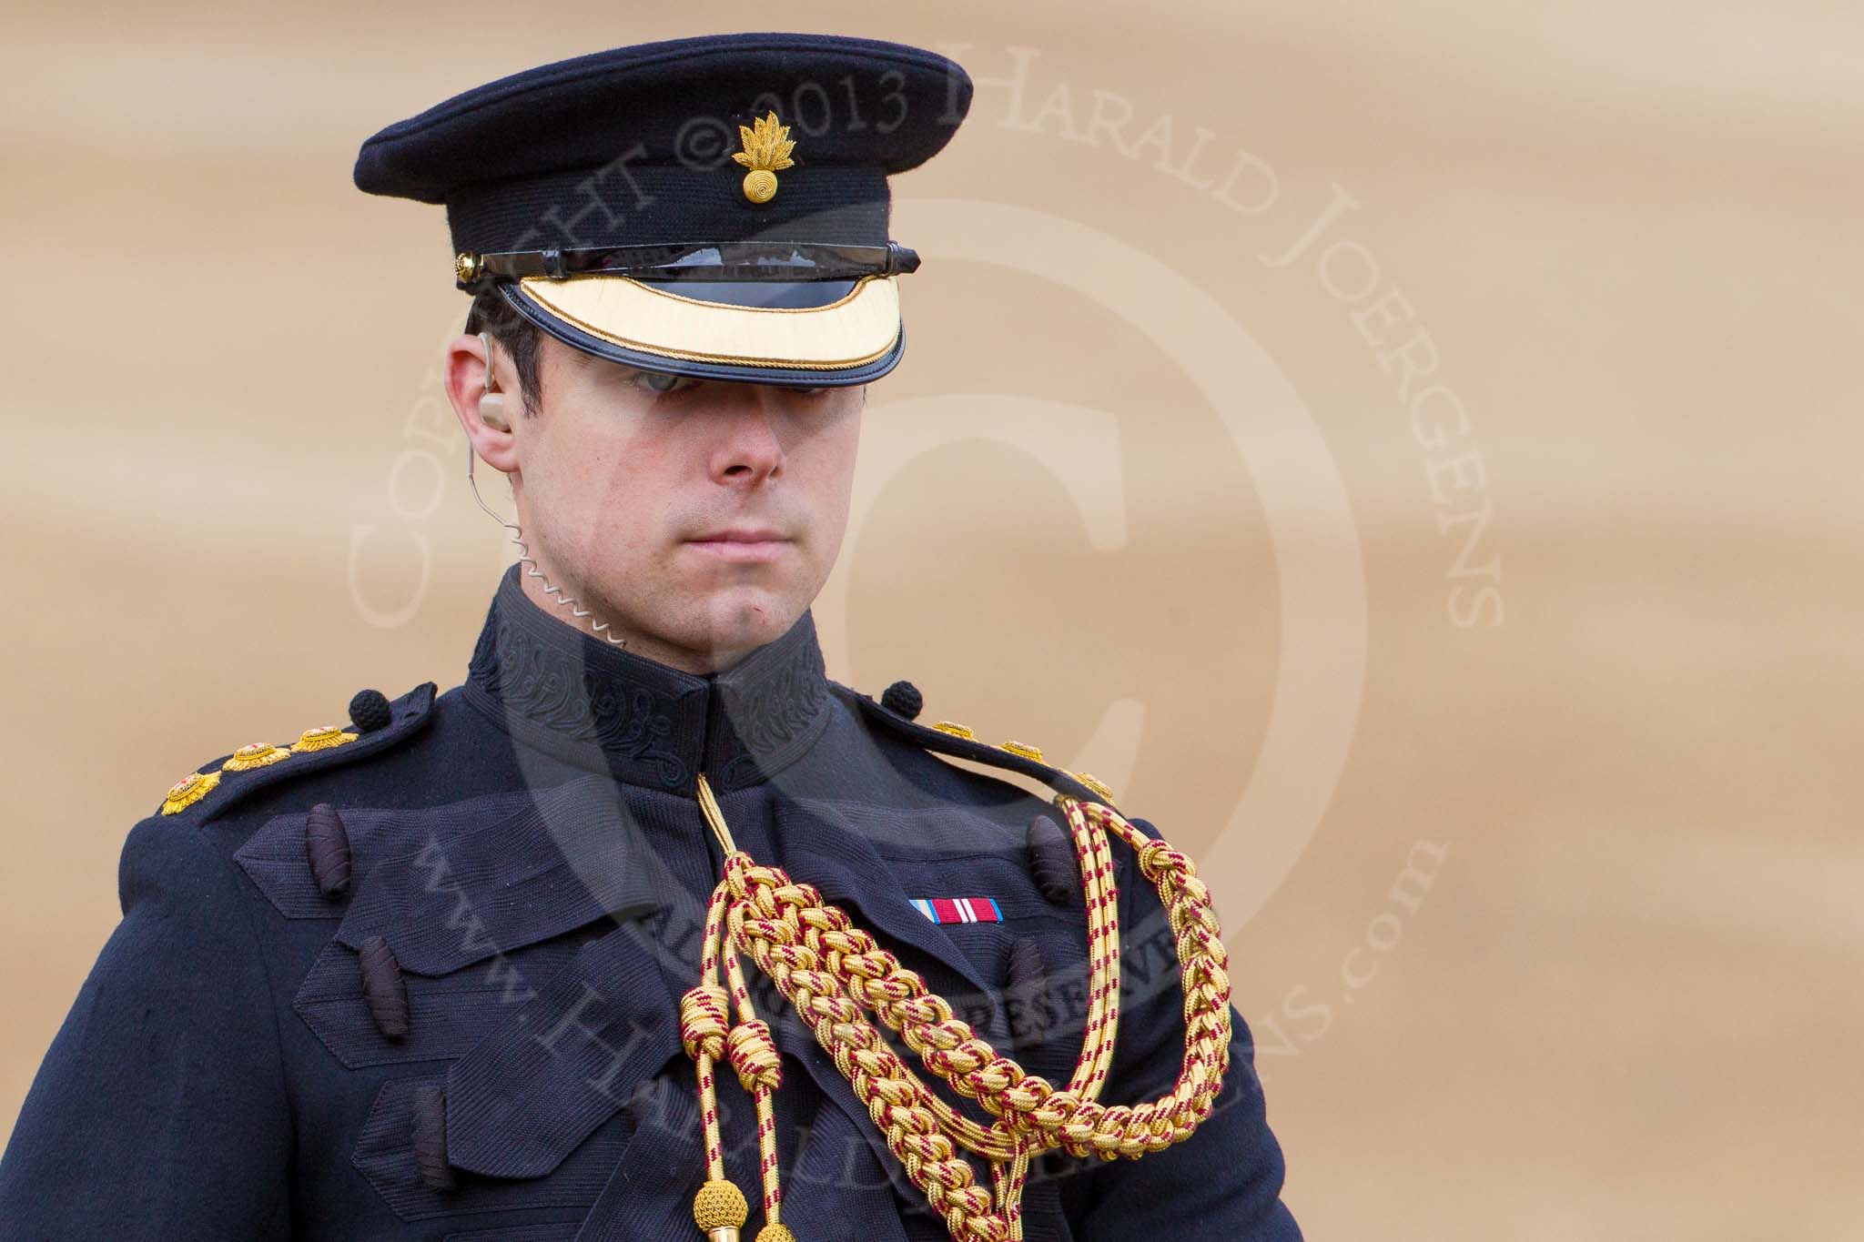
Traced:
<path fill-rule="evenodd" d="M 705 775 L 699 808 L 725 851 L 723 877 L 706 909 L 699 985 L 680 998 L 680 1043 L 697 1061 L 705 1117 L 708 1182 L 693 1201 L 693 1222 L 712 1242 L 738 1242 L 747 1207 L 725 1179 L 712 1069 L 731 1061 L 757 1100 L 759 1164 L 764 1175 L 764 1227 L 757 1242 L 792 1242 L 779 1223 L 772 1093 L 781 1061 L 770 1028 L 751 1009 L 740 955 L 749 955 L 796 1007 L 816 1043 L 835 1060 L 869 1115 L 887 1117 L 887 1147 L 925 1192 L 956 1242 L 1020 1242 L 1021 1194 L 1029 1160 L 1051 1147 L 1076 1156 L 1139 1158 L 1184 1141 L 1212 1112 L 1230 1058 L 1228 955 L 1210 890 L 1191 860 L 1128 823 L 1117 810 L 1057 795 L 1068 819 L 1087 894 L 1090 963 L 1087 1032 L 1066 1087 L 1027 1073 L 953 1017 L 943 998 L 826 905 L 813 884 L 792 883 L 781 868 L 740 853 Z M 1146 1104 L 1098 1102 L 1113 1063 L 1120 1022 L 1120 916 L 1107 840 L 1118 836 L 1139 855 L 1141 873 L 1158 888 L 1176 935 L 1186 994 L 1184 1063 L 1171 1093 Z M 723 965 L 725 985 L 720 985 Z M 727 1000 L 738 1020 L 729 1020 Z M 984 1127 L 936 1097 L 889 1046 L 865 1011 L 898 1032 L 926 1069 L 997 1119 Z M 994 1192 L 973 1184 L 958 1147 L 990 1162 Z"/>

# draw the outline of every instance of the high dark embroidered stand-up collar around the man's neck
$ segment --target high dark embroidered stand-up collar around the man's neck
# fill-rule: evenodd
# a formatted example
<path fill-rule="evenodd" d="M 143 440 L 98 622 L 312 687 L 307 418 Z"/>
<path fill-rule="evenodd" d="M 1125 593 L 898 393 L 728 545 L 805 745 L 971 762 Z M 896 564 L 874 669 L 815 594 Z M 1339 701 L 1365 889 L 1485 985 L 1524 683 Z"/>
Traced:
<path fill-rule="evenodd" d="M 550 616 L 511 566 L 473 646 L 464 695 L 513 737 L 626 784 L 731 790 L 802 758 L 829 715 L 809 613 L 725 672 L 697 676 Z"/>

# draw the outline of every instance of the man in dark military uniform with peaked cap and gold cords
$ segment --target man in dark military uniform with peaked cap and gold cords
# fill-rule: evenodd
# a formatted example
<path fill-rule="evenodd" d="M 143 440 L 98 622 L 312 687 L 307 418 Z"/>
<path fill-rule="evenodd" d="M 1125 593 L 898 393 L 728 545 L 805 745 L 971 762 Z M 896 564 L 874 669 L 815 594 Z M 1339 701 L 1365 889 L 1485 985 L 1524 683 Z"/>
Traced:
<path fill-rule="evenodd" d="M 824 676 L 917 266 L 887 177 L 969 99 L 921 48 L 718 35 L 363 145 L 363 190 L 447 207 L 447 393 L 524 557 L 462 685 L 134 827 L 6 1238 L 1299 1236 L 1187 860 Z"/>

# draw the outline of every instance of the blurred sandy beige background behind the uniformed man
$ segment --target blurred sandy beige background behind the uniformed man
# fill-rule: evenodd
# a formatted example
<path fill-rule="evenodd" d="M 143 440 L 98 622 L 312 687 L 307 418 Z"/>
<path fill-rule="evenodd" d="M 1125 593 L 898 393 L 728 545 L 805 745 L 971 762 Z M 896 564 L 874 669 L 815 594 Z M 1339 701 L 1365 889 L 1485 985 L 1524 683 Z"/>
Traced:
<path fill-rule="evenodd" d="M 1102 771 L 1221 877 L 1309 1236 L 1858 1236 L 1834 4 L 9 7 L 0 1128 L 171 780 L 464 676 L 503 564 L 434 372 L 464 298 L 356 145 L 764 28 L 980 82 L 895 182 L 926 264 L 831 676 Z"/>

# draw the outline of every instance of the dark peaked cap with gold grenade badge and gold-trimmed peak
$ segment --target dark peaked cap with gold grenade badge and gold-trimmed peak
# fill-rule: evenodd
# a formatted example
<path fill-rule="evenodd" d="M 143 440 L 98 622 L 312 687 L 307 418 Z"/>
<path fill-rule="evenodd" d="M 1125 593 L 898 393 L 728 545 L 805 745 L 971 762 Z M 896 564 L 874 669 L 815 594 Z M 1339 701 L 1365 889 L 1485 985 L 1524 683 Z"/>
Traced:
<path fill-rule="evenodd" d="M 951 142 L 954 61 L 818 34 L 669 39 L 473 88 L 369 138 L 356 184 L 444 203 L 462 289 L 637 367 L 863 384 L 898 363 L 887 177 Z"/>

